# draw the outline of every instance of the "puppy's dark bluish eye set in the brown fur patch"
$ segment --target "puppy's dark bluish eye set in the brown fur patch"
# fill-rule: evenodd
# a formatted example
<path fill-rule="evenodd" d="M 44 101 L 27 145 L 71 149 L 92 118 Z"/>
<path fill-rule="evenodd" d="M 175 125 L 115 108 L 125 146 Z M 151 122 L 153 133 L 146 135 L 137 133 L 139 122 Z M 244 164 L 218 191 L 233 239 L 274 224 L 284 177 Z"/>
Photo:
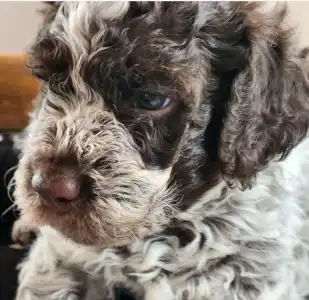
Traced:
<path fill-rule="evenodd" d="M 171 98 L 161 94 L 141 93 L 135 98 L 135 107 L 146 110 L 159 110 L 171 104 Z"/>

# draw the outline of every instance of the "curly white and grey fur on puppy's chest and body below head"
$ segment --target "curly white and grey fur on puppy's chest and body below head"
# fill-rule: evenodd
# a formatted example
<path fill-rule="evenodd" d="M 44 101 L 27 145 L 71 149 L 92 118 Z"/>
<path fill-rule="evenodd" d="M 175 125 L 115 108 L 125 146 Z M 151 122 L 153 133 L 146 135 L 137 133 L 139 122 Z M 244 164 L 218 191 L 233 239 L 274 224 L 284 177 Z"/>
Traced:
<path fill-rule="evenodd" d="M 308 174 L 307 138 L 250 190 L 220 183 L 173 229 L 125 250 L 77 246 L 50 228 L 40 243 L 62 243 L 57 255 L 89 274 L 87 299 L 118 285 L 147 300 L 301 299 L 309 292 Z"/>

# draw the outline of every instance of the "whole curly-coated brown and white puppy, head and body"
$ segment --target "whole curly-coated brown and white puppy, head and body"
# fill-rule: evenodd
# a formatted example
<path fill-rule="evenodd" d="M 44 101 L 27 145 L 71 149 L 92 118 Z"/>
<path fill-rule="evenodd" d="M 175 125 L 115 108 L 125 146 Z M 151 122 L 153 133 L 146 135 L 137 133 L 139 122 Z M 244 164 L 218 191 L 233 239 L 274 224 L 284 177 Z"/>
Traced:
<path fill-rule="evenodd" d="M 15 233 L 40 234 L 18 300 L 305 297 L 309 64 L 285 15 L 226 1 L 52 7 L 28 63 L 42 87 Z"/>

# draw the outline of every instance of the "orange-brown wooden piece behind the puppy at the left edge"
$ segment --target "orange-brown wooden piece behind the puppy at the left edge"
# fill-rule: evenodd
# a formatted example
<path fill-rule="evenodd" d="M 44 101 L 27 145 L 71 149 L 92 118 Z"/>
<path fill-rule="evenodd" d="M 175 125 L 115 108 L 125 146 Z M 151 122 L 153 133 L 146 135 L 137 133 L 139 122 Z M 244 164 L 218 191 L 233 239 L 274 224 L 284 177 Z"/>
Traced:
<path fill-rule="evenodd" d="M 19 131 L 28 123 L 39 82 L 25 65 L 23 54 L 0 54 L 0 131 Z"/>

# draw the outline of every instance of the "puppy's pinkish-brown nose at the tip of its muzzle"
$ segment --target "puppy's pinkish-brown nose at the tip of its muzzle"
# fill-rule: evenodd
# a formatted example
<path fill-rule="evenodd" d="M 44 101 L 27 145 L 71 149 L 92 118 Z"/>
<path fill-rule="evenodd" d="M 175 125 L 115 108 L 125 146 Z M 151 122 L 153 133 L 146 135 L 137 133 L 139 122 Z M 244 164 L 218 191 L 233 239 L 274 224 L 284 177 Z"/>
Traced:
<path fill-rule="evenodd" d="M 46 201 L 74 201 L 80 192 L 77 178 L 61 176 L 55 179 L 44 178 L 40 173 L 32 177 L 32 187 Z"/>

